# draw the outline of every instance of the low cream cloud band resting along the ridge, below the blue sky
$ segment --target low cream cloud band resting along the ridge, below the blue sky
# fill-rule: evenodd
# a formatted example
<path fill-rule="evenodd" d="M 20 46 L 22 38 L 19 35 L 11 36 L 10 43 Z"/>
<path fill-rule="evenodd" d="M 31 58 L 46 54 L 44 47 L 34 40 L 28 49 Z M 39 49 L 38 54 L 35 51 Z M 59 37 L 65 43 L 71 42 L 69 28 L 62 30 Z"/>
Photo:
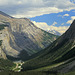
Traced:
<path fill-rule="evenodd" d="M 45 30 L 45 31 L 49 31 L 49 30 L 56 30 L 59 33 L 63 34 L 68 28 L 69 26 L 60 26 L 60 27 L 56 27 L 56 26 L 49 26 L 47 23 L 45 22 L 35 22 L 32 21 L 37 27 Z"/>

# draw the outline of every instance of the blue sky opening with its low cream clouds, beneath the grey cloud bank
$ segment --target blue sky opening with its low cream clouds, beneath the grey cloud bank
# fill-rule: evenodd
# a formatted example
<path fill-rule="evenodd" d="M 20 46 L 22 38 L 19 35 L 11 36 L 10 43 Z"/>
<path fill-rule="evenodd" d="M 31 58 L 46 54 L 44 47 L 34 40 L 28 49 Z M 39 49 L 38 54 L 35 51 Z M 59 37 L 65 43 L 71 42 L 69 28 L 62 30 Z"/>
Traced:
<path fill-rule="evenodd" d="M 75 9 L 59 13 L 50 13 L 30 18 L 39 28 L 50 31 L 55 30 L 63 34 L 75 19 Z"/>

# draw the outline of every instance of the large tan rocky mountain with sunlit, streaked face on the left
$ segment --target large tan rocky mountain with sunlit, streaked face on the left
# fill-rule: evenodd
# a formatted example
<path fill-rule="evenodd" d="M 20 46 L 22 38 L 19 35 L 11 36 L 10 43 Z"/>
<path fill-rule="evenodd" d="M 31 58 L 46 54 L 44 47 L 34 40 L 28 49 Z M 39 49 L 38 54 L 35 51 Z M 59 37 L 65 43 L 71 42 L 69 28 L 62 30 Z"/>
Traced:
<path fill-rule="evenodd" d="M 0 11 L 0 58 L 26 60 L 57 37 L 39 29 L 27 18 L 13 18 Z"/>

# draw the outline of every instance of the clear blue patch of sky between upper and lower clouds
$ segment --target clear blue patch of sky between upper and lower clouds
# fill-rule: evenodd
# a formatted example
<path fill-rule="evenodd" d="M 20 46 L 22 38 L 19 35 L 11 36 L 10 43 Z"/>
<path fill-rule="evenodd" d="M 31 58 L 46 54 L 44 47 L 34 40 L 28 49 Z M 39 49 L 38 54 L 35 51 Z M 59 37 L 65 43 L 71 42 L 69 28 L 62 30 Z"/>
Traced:
<path fill-rule="evenodd" d="M 64 16 L 65 14 L 69 14 L 69 15 Z M 70 24 L 68 24 L 67 21 L 71 19 L 71 16 L 75 16 L 74 9 L 71 11 L 64 11 L 60 13 L 51 13 L 42 16 L 36 16 L 30 19 L 36 22 L 46 22 L 48 25 L 52 25 L 54 22 L 57 22 L 55 26 L 59 27 L 62 24 L 63 26 L 70 26 Z"/>

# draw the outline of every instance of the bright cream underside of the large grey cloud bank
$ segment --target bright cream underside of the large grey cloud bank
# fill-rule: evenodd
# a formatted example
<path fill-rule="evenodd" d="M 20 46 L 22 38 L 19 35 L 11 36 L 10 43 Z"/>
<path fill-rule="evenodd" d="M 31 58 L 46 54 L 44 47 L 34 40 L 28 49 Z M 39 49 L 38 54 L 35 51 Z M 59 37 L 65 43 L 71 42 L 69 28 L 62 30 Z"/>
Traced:
<path fill-rule="evenodd" d="M 40 15 L 43 15 L 43 14 L 62 12 L 62 10 L 59 10 L 56 7 L 53 7 L 53 8 L 51 8 L 51 7 L 47 7 L 47 8 L 44 7 L 44 8 L 40 8 L 40 9 L 39 8 L 31 8 L 31 9 L 29 9 L 29 11 L 26 11 L 24 13 L 17 12 L 17 14 L 12 15 L 12 16 L 13 17 L 17 17 L 17 18 L 19 18 L 19 17 L 28 17 L 29 18 L 29 17 L 40 16 Z"/>

